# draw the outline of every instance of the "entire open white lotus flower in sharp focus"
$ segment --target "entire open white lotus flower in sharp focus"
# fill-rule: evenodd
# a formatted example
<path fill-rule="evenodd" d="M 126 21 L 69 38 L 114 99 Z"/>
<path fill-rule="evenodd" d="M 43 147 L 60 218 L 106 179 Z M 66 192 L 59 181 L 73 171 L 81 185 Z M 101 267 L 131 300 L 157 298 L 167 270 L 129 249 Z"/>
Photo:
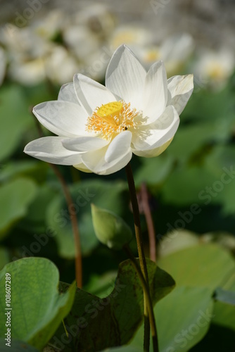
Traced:
<path fill-rule="evenodd" d="M 193 76 L 167 80 L 162 61 L 148 73 L 127 46 L 106 71 L 106 87 L 81 74 L 61 87 L 58 101 L 40 103 L 34 115 L 58 137 L 42 137 L 25 153 L 42 161 L 109 175 L 137 156 L 153 157 L 172 141 L 193 91 Z"/>

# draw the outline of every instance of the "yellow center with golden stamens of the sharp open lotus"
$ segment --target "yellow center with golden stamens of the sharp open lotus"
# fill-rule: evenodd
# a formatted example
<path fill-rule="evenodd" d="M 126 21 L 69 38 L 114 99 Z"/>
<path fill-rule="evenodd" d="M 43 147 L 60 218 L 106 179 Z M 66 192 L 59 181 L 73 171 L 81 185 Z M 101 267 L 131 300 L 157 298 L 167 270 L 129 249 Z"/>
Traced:
<path fill-rule="evenodd" d="M 130 108 L 125 101 L 112 101 L 96 108 L 87 119 L 87 131 L 96 132 L 104 139 L 113 139 L 126 130 L 135 130 L 142 124 L 142 111 Z"/>

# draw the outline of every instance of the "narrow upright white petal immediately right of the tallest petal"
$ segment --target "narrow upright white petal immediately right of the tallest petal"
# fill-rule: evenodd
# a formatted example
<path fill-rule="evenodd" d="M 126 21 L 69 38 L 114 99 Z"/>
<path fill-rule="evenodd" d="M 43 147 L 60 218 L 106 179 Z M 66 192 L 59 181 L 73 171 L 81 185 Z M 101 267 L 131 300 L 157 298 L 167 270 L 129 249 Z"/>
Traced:
<path fill-rule="evenodd" d="M 167 105 L 167 74 L 163 61 L 151 65 L 148 70 L 144 88 L 144 116 L 151 123 L 162 115 Z"/>

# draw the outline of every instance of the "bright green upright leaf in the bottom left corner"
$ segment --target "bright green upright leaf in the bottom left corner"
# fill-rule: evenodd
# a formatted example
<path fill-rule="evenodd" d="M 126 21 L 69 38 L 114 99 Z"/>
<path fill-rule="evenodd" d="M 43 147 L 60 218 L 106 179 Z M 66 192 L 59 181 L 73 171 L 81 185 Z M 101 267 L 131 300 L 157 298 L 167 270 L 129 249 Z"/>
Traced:
<path fill-rule="evenodd" d="M 11 275 L 11 337 L 42 348 L 68 315 L 75 283 L 58 293 L 58 269 L 45 258 L 23 258 L 7 264 L 0 274 L 0 306 L 6 308 L 6 273 Z M 0 337 L 6 333 L 0 321 Z"/>

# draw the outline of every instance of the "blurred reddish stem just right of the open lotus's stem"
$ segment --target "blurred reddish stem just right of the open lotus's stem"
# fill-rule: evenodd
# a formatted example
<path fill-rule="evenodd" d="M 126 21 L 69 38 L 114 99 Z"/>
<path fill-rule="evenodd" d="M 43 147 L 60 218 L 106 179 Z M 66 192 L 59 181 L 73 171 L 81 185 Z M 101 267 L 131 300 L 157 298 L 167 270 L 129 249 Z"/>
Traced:
<path fill-rule="evenodd" d="M 146 218 L 148 227 L 148 239 L 149 239 L 149 256 L 153 262 L 156 261 L 156 244 L 155 244 L 155 230 L 153 225 L 153 218 L 148 203 L 148 190 L 146 184 L 141 184 L 141 201 L 144 210 L 144 216 Z"/>

